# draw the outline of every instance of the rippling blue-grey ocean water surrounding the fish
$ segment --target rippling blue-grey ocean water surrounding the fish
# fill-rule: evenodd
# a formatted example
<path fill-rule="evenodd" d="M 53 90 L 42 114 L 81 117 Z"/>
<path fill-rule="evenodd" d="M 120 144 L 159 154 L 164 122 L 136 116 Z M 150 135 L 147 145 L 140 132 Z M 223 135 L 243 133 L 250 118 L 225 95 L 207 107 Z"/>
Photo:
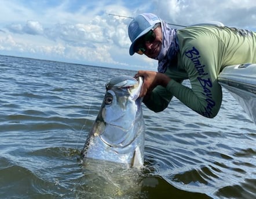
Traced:
<path fill-rule="evenodd" d="M 0 198 L 256 198 L 256 125 L 225 89 L 214 119 L 143 106 L 145 166 L 126 194 L 101 189 L 115 172 L 85 172 L 80 152 L 105 83 L 136 72 L 8 56 L 0 70 Z"/>

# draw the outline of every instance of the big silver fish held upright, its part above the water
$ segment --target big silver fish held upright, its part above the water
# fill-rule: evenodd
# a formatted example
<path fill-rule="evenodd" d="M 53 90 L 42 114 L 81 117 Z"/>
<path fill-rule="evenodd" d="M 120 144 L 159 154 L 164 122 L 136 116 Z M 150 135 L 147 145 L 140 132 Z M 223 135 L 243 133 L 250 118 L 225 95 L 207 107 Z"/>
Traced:
<path fill-rule="evenodd" d="M 142 77 L 112 78 L 96 121 L 82 150 L 86 159 L 104 160 L 141 167 L 144 163 L 145 124 L 142 98 L 139 97 Z"/>

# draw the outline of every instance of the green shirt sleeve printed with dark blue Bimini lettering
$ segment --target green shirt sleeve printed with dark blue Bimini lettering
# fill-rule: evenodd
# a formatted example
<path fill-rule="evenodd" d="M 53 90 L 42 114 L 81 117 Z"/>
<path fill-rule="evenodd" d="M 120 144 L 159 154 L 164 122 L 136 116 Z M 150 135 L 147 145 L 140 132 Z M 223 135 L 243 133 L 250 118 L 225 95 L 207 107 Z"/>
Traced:
<path fill-rule="evenodd" d="M 186 40 L 180 63 L 188 74 L 191 88 L 175 80 L 166 87 L 187 107 L 207 118 L 217 115 L 222 101 L 221 86 L 217 81 L 223 49 L 219 45 L 218 39 L 210 33 Z"/>

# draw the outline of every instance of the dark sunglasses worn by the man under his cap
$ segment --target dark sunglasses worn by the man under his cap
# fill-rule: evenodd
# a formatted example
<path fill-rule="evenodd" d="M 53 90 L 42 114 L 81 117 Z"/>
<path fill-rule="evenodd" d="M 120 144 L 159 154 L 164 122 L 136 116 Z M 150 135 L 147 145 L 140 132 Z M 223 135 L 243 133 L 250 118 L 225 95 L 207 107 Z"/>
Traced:
<path fill-rule="evenodd" d="M 156 39 L 156 34 L 153 32 L 157 27 L 159 27 L 160 23 L 153 26 L 153 28 L 145 33 L 144 36 L 140 37 L 134 45 L 134 51 L 138 54 L 142 55 L 147 50 L 145 43 L 152 43 Z"/>

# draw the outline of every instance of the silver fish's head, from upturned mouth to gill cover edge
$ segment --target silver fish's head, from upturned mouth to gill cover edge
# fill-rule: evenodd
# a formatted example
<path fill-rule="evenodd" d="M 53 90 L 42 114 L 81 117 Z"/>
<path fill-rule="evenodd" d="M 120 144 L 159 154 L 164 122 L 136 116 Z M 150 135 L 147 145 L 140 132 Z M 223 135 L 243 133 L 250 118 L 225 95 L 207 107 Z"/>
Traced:
<path fill-rule="evenodd" d="M 137 81 L 129 76 L 122 76 L 106 85 L 107 92 L 100 115 L 109 128 L 100 135 L 106 144 L 123 148 L 136 137 L 137 132 L 133 127 L 140 114 L 142 99 L 138 97 L 142 82 L 141 77 Z"/>

